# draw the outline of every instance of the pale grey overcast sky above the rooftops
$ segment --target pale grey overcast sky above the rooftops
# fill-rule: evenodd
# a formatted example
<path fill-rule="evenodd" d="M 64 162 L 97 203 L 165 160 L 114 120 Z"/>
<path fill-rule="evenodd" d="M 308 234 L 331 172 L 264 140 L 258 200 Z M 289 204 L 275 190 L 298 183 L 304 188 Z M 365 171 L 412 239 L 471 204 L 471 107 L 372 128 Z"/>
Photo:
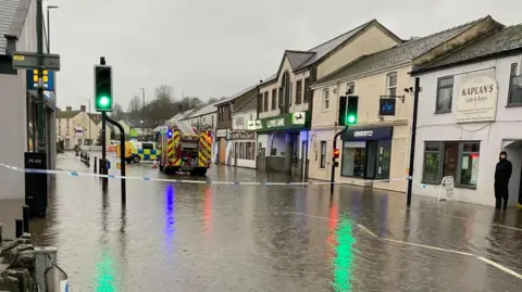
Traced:
<path fill-rule="evenodd" d="M 372 18 L 401 38 L 423 36 L 487 14 L 522 22 L 520 0 L 49 0 L 51 52 L 61 55 L 58 104 L 92 97 L 94 64 L 113 66 L 124 110 L 160 85 L 175 97 L 234 94 L 265 78 L 285 49 L 309 50 Z"/>

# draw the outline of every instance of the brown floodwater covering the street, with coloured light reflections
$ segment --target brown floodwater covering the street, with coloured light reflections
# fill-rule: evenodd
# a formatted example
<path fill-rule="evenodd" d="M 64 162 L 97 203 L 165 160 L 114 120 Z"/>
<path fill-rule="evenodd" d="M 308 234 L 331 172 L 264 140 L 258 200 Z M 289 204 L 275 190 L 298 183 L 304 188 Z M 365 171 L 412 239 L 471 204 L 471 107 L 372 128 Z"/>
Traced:
<path fill-rule="evenodd" d="M 58 165 L 91 173 L 70 154 Z M 216 165 L 206 178 L 167 177 L 151 164 L 127 174 L 296 180 Z M 100 178 L 58 175 L 49 216 L 30 231 L 36 244 L 59 249 L 74 291 L 520 291 L 522 212 L 405 202 L 352 186 L 331 196 L 326 185 L 128 180 L 122 207 L 117 179 L 102 192 Z"/>

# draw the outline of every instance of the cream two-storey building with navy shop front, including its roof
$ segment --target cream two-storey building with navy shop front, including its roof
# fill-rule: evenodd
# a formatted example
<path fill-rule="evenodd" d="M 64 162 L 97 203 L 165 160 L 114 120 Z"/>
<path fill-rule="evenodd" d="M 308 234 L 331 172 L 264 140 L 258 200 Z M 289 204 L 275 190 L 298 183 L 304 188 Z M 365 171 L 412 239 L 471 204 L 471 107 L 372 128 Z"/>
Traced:
<path fill-rule="evenodd" d="M 364 55 L 313 86 L 310 178 L 331 178 L 339 97 L 358 97 L 357 124 L 337 140 L 335 180 L 403 192 L 409 165 L 412 87 L 409 73 L 497 29 L 485 17 Z"/>

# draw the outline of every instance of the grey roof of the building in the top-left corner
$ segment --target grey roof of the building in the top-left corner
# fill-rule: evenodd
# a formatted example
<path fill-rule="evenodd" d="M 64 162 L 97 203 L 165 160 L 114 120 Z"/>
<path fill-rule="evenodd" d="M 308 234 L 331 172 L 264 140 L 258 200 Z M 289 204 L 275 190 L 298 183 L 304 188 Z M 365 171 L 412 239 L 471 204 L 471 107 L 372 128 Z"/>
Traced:
<path fill-rule="evenodd" d="M 0 54 L 5 53 L 5 35 L 20 37 L 32 0 L 0 1 Z"/>

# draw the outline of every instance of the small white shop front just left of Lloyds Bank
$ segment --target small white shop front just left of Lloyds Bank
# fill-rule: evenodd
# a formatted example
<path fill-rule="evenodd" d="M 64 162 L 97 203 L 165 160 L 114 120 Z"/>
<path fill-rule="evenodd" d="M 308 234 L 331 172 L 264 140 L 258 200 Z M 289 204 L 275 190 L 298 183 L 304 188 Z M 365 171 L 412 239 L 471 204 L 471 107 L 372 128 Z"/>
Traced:
<path fill-rule="evenodd" d="M 232 130 L 233 155 L 231 165 L 256 168 L 256 131 Z"/>

